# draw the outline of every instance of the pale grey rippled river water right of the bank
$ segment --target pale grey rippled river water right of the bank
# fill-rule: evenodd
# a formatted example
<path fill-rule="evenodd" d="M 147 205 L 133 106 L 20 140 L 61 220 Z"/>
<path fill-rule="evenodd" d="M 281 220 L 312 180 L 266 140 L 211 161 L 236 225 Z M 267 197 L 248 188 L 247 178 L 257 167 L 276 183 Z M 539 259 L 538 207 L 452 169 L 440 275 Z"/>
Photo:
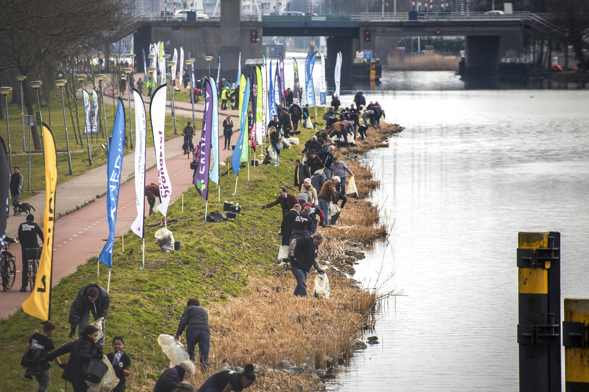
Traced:
<path fill-rule="evenodd" d="M 560 231 L 561 298 L 589 297 L 589 91 L 464 91 L 429 75 L 429 90 L 365 94 L 405 130 L 369 152 L 394 227 L 354 277 L 373 284 L 382 266 L 405 296 L 329 390 L 516 391 L 518 231 Z"/>

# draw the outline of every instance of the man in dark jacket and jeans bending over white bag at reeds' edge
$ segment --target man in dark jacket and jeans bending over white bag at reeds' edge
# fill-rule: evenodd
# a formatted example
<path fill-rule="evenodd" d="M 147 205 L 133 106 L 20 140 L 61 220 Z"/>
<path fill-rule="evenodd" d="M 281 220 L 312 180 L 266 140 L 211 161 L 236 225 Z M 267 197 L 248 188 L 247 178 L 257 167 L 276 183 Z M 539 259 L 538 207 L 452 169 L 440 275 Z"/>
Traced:
<path fill-rule="evenodd" d="M 317 272 L 323 270 L 319 266 L 318 258 L 319 245 L 323 242 L 323 234 L 316 233 L 313 236 L 305 236 L 293 239 L 289 246 L 290 265 L 292 273 L 296 278 L 294 295 L 299 297 L 307 296 L 307 275 L 315 266 Z"/>

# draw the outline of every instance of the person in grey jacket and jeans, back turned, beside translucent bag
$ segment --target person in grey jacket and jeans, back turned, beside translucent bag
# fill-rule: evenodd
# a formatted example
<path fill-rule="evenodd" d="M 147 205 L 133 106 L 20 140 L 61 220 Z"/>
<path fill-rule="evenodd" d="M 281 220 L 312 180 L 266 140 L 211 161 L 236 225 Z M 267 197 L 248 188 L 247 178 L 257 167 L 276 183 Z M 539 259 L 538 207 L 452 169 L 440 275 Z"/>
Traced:
<path fill-rule="evenodd" d="M 176 331 L 176 339 L 186 329 L 186 350 L 190 360 L 194 361 L 194 346 L 198 343 L 198 361 L 203 370 L 209 370 L 209 349 L 211 346 L 211 330 L 209 314 L 200 306 L 196 298 L 191 298 L 184 308 L 180 325 Z"/>

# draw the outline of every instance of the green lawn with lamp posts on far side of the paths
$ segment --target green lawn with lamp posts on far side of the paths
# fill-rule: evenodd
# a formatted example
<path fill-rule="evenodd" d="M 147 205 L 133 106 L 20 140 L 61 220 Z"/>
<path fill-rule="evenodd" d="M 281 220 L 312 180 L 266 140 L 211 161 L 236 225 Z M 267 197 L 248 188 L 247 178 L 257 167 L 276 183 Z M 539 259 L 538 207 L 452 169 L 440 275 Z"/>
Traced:
<path fill-rule="evenodd" d="M 12 99 L 11 95 L 8 95 L 8 102 Z M 108 105 L 108 103 L 112 103 L 112 98 L 105 97 L 105 111 L 107 114 L 107 126 L 108 132 L 112 133 L 112 124 L 114 123 L 114 115 L 115 109 L 114 106 Z M 59 91 L 52 93 L 51 100 L 49 101 L 51 106 L 51 125 L 49 128 L 53 133 L 55 139 L 55 146 L 58 149 L 65 149 L 67 147 L 67 143 L 65 140 L 65 128 L 64 128 L 64 116 L 61 108 L 61 95 L 59 95 Z M 66 102 L 67 103 L 67 102 Z M 128 130 L 128 108 L 127 108 L 127 100 L 123 101 L 125 108 L 126 108 L 126 119 L 127 119 L 127 138 L 129 135 Z M 100 147 L 101 144 L 105 143 L 105 138 L 102 138 L 100 135 L 100 130 L 98 137 L 97 135 L 93 135 L 93 143 L 91 142 L 91 153 L 92 153 L 92 166 L 88 165 L 88 152 L 86 146 L 86 136 L 83 134 L 84 132 L 84 114 L 82 110 L 83 103 L 78 101 L 78 116 L 80 117 L 80 130 L 82 133 L 82 145 L 78 142 L 76 143 L 74 137 L 74 128 L 72 127 L 70 111 L 69 109 L 65 108 L 65 115 L 67 119 L 67 128 L 68 128 L 68 136 L 70 139 L 70 151 L 76 151 L 71 153 L 72 157 L 72 173 L 74 176 L 79 176 L 84 174 L 90 169 L 94 169 L 95 167 L 105 165 L 107 163 L 107 156 L 103 152 L 102 148 Z M 33 104 L 33 108 L 37 106 Z M 49 125 L 49 109 L 48 106 L 44 106 L 42 109 L 43 121 Z M 25 110 L 26 112 L 26 110 Z M 74 122 L 75 122 L 75 110 L 72 107 L 72 113 L 74 115 Z M 25 113 L 26 114 L 26 113 Z M 102 113 L 100 113 L 102 116 Z M 133 132 L 135 132 L 135 111 L 131 110 L 131 116 L 133 119 Z M 27 155 L 15 155 L 14 152 L 22 153 L 22 125 L 21 125 L 21 108 L 19 105 L 13 105 L 11 103 L 8 104 L 8 120 L 10 125 L 10 136 L 11 136 L 11 145 L 12 145 L 12 165 L 13 166 L 20 166 L 21 174 L 24 176 L 24 184 L 23 190 L 27 190 L 27 183 L 28 183 L 28 154 Z M 183 121 L 192 120 L 188 118 L 183 118 L 177 116 L 177 129 L 178 135 L 182 133 L 182 127 L 180 124 Z M 104 126 L 104 117 L 102 118 L 102 126 Z M 77 123 L 76 123 L 77 125 Z M 200 129 L 202 126 L 201 120 L 196 120 L 196 129 Z M 25 134 L 27 137 L 27 149 L 28 149 L 28 128 L 25 128 Z M 8 145 L 8 135 L 6 132 L 6 120 L 0 121 L 0 136 L 4 139 L 6 145 Z M 133 133 L 135 136 L 135 133 Z M 174 119 L 171 116 L 166 116 L 166 140 L 173 138 L 174 135 Z M 133 141 L 135 138 L 133 138 Z M 128 140 L 130 142 L 130 140 Z M 150 115 L 147 112 L 147 146 L 153 146 L 153 134 L 151 133 L 151 126 L 150 126 Z M 133 152 L 130 149 L 125 150 L 125 154 Z M 67 153 L 58 153 L 57 154 L 57 183 L 68 181 L 72 178 L 70 176 L 70 169 L 68 168 L 68 159 Z M 42 190 L 45 189 L 45 172 L 43 166 L 43 155 L 42 154 L 33 154 L 31 155 L 31 191 L 34 190 Z M 23 192 L 21 199 L 26 199 L 27 197 L 31 196 L 28 192 Z"/>

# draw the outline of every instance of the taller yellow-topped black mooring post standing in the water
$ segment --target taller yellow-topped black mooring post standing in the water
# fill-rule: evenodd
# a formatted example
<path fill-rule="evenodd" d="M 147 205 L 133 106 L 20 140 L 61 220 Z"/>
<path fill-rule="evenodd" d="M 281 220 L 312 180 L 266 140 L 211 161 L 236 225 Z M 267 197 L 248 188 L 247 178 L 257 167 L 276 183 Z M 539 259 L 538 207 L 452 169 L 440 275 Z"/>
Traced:
<path fill-rule="evenodd" d="M 519 232 L 517 266 L 519 392 L 560 392 L 560 233 Z"/>

